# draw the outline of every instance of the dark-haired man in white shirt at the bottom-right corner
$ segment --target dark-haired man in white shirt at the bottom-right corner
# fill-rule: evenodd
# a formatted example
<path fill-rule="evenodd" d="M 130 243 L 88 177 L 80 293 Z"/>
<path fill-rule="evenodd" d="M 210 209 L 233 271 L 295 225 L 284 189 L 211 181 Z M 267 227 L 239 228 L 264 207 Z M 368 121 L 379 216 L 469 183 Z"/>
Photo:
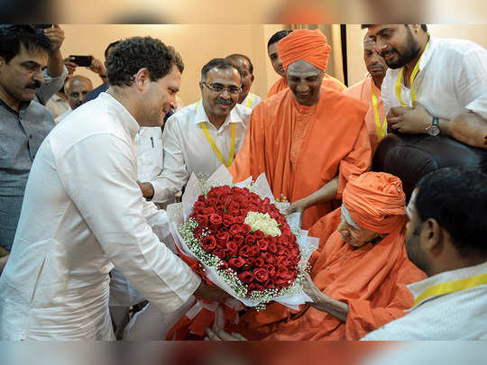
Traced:
<path fill-rule="evenodd" d="M 409 201 L 406 251 L 428 278 L 409 284 L 408 314 L 373 341 L 487 340 L 487 175 L 438 169 Z"/>

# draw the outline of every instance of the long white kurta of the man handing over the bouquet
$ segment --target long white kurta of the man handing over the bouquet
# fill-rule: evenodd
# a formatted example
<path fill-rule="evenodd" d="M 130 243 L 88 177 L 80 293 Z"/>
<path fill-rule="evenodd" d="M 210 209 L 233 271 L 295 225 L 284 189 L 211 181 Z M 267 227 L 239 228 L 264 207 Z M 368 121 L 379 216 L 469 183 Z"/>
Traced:
<path fill-rule="evenodd" d="M 152 233 L 167 218 L 136 184 L 138 130 L 102 93 L 42 142 L 0 278 L 0 339 L 113 339 L 114 264 L 165 313 L 198 287 L 200 278 Z"/>

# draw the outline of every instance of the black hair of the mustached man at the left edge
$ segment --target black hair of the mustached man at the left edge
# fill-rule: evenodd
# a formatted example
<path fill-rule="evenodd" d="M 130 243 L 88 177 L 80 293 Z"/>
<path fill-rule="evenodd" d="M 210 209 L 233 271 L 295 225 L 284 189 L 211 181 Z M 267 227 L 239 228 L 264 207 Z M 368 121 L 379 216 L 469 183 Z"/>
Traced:
<path fill-rule="evenodd" d="M 51 53 L 51 40 L 42 29 L 32 25 L 0 24 L 0 57 L 10 62 L 21 50 L 21 44 L 26 50 L 43 50 Z"/>

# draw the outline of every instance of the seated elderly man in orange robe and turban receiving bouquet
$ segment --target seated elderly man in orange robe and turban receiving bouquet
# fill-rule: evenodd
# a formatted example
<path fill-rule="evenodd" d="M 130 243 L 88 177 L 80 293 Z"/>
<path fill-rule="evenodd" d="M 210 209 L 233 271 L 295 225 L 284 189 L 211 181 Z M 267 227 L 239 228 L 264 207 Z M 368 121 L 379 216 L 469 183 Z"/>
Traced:
<path fill-rule="evenodd" d="M 414 300 L 406 285 L 426 275 L 405 250 L 407 218 L 400 179 L 367 172 L 350 180 L 343 202 L 332 213 L 334 219 L 326 216 L 311 230 L 321 241 L 304 284 L 313 303 L 300 311 L 275 302 L 262 312 L 251 310 L 235 332 L 252 340 L 359 340 L 405 315 Z M 322 240 L 329 234 L 326 227 L 340 216 L 335 233 Z"/>

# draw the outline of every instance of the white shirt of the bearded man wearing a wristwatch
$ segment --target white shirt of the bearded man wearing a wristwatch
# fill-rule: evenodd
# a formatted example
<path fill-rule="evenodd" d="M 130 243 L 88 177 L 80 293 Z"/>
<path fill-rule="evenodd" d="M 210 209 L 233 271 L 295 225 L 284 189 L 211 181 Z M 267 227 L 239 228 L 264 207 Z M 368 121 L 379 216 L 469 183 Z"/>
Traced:
<path fill-rule="evenodd" d="M 388 68 L 382 81 L 386 115 L 392 106 L 400 106 L 395 91 L 399 76 L 400 68 Z M 418 103 L 438 118 L 450 120 L 468 111 L 487 118 L 487 50 L 472 41 L 430 36 L 413 87 Z M 411 106 L 411 90 L 402 82 L 400 90 Z"/>

